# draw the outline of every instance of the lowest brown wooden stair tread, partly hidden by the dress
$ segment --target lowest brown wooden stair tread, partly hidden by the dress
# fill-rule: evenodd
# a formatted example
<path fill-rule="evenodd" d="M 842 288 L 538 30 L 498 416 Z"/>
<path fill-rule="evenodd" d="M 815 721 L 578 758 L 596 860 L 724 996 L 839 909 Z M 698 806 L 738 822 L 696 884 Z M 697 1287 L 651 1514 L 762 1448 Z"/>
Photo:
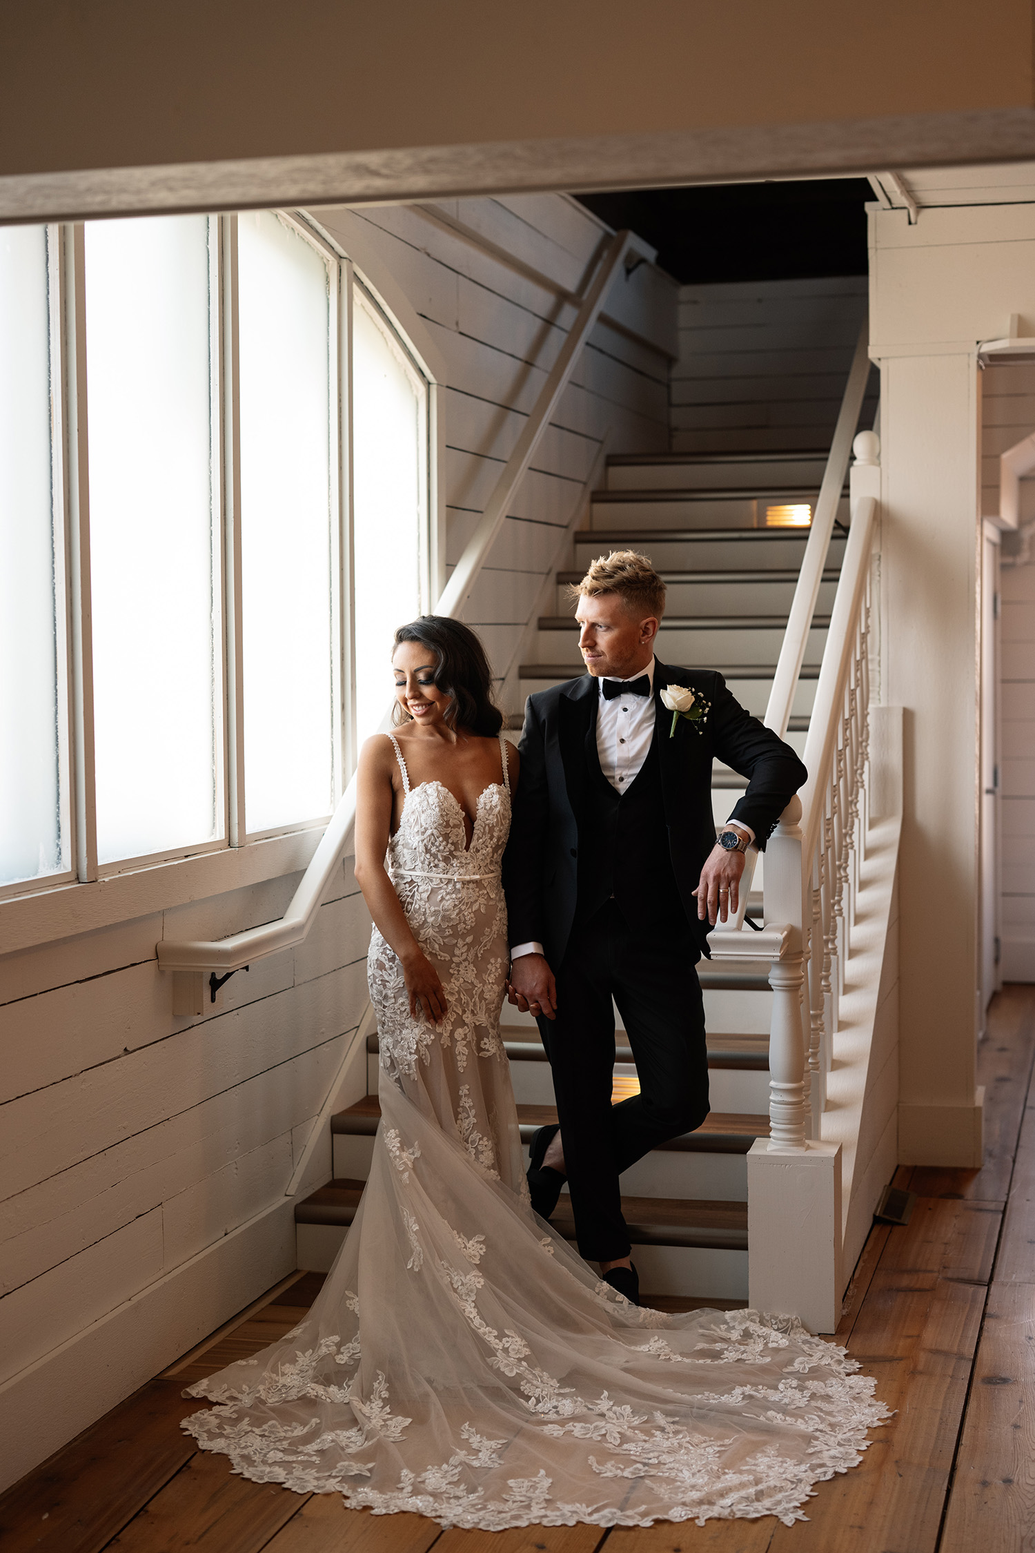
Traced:
<path fill-rule="evenodd" d="M 318 1186 L 295 1208 L 296 1224 L 349 1225 L 366 1182 L 338 1179 Z M 711 1250 L 748 1249 L 748 1204 L 684 1197 L 622 1197 L 628 1238 L 635 1246 L 691 1246 Z M 574 1239 L 566 1197 L 551 1218 L 565 1239 Z"/>

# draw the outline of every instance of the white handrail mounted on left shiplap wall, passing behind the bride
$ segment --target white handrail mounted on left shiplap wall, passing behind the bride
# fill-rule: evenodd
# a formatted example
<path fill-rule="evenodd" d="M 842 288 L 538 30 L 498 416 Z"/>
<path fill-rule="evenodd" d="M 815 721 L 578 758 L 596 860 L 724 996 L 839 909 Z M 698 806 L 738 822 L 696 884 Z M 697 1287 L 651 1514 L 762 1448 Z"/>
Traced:
<path fill-rule="evenodd" d="M 557 360 L 546 374 L 546 382 L 540 388 L 532 412 L 517 439 L 514 452 L 497 480 L 497 486 L 489 497 L 486 511 L 475 528 L 464 554 L 456 562 L 453 573 L 436 604 L 436 613 L 456 617 L 461 613 L 470 590 L 478 579 L 497 534 L 506 522 L 514 494 L 524 475 L 538 443 L 549 426 L 549 419 L 557 407 L 557 401 L 565 391 L 582 346 L 588 340 L 596 325 L 608 287 L 622 269 L 625 255 L 635 239 L 630 231 L 619 231 L 604 250 L 601 264 L 588 286 L 568 337 L 562 345 Z M 379 731 L 389 727 L 386 713 Z M 355 776 L 341 794 L 338 804 L 320 839 L 306 873 L 303 874 L 292 902 L 284 916 L 275 922 L 262 922 L 259 927 L 248 927 L 228 938 L 206 940 L 161 940 L 155 949 L 158 964 L 163 971 L 241 971 L 253 960 L 264 955 L 275 955 L 281 949 L 299 944 L 320 910 L 327 884 L 338 867 L 349 842 L 355 822 Z"/>

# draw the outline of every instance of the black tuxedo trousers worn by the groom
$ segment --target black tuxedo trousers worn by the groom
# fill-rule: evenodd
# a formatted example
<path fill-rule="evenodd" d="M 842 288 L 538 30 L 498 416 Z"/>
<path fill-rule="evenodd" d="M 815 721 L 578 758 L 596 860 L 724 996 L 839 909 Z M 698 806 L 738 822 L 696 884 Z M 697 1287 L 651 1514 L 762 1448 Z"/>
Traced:
<path fill-rule="evenodd" d="M 681 912 L 659 927 L 627 919 L 610 899 L 585 922 L 576 918 L 556 971 L 557 1017 L 540 1017 L 538 1028 L 587 1261 L 628 1256 L 621 1173 L 667 1138 L 700 1127 L 708 1115 L 698 958 Z M 639 1076 L 639 1093 L 618 1106 L 611 1104 L 614 1006 Z"/>

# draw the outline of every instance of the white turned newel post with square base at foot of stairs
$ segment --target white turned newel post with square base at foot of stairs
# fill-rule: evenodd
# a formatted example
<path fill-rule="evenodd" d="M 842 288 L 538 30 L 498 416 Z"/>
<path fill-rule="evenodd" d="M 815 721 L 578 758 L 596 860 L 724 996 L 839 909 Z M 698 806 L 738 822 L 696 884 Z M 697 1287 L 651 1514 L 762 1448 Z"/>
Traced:
<path fill-rule="evenodd" d="M 771 1137 L 748 1154 L 748 1300 L 832 1332 L 841 1315 L 841 1145 L 807 1137 L 802 929 L 812 926 L 813 868 L 808 859 L 805 876 L 799 818 L 793 798 L 765 851 L 767 924 L 787 929 L 770 971 Z M 813 941 L 813 954 L 822 949 Z"/>

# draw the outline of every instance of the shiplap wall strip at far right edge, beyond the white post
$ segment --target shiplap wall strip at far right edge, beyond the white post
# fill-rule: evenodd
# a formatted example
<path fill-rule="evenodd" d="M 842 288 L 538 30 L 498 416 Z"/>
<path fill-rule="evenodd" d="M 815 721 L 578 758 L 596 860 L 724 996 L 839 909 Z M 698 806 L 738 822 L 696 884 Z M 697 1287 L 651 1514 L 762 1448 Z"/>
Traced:
<path fill-rule="evenodd" d="M 999 511 L 999 453 L 1035 430 L 1035 367 L 990 367 L 982 390 L 982 512 Z M 1035 480 L 1021 481 L 1021 523 Z M 1019 551 L 1019 553 L 1018 553 Z M 999 568 L 1001 974 L 1035 981 L 1035 545 L 1006 534 Z"/>

